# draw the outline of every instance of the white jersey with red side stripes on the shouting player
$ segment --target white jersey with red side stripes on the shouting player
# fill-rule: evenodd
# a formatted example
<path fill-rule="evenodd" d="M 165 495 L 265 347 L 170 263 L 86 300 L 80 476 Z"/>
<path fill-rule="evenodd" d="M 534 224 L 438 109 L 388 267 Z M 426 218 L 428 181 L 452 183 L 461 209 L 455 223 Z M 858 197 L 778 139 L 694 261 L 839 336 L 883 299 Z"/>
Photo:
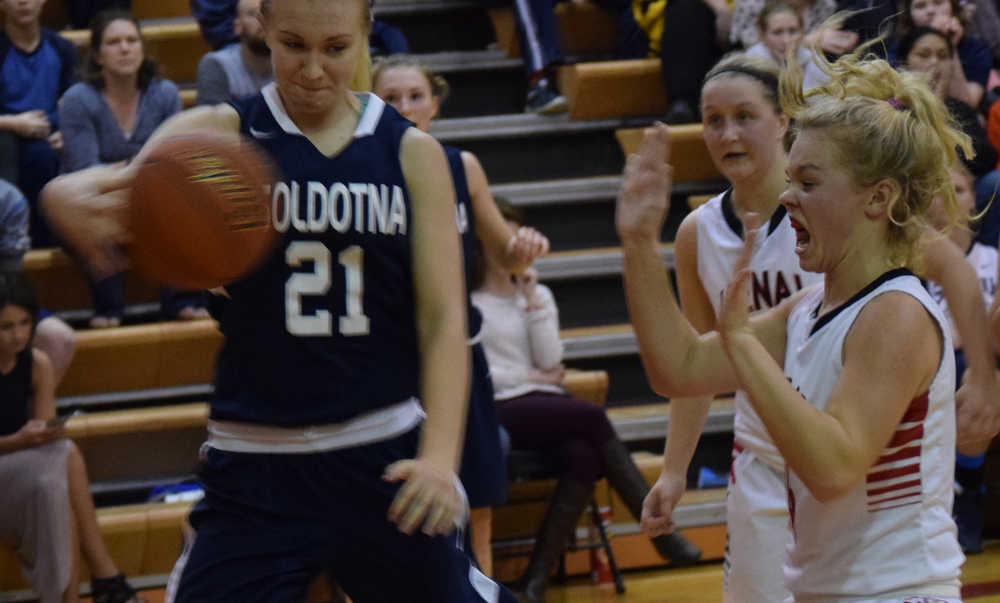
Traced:
<path fill-rule="evenodd" d="M 836 500 L 816 500 L 788 472 L 794 544 L 785 581 L 803 601 L 854 601 L 897 594 L 959 596 L 964 557 L 951 518 L 955 465 L 955 362 L 944 314 L 906 270 L 882 275 L 842 306 L 817 317 L 823 288 L 788 318 L 785 375 L 810 404 L 826 408 L 843 372 L 844 341 L 875 297 L 917 299 L 944 336 L 928 390 L 914 398 L 865 480 Z"/>

